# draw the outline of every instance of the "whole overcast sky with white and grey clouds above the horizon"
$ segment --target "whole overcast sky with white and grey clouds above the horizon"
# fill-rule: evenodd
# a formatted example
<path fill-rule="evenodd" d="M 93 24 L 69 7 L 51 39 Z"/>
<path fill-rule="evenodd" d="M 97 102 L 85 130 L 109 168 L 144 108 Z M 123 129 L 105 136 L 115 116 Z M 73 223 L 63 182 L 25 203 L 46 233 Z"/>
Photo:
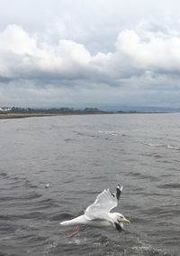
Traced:
<path fill-rule="evenodd" d="M 0 0 L 0 106 L 180 107 L 178 0 Z"/>

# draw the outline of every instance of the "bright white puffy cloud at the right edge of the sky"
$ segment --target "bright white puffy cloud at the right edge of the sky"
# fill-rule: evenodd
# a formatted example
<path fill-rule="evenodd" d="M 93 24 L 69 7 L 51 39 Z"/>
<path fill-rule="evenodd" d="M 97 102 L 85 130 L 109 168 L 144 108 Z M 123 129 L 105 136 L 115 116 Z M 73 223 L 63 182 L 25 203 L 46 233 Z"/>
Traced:
<path fill-rule="evenodd" d="M 118 51 L 142 70 L 179 71 L 180 37 L 151 34 L 148 41 L 143 41 L 134 31 L 126 30 L 120 33 L 116 45 Z"/>

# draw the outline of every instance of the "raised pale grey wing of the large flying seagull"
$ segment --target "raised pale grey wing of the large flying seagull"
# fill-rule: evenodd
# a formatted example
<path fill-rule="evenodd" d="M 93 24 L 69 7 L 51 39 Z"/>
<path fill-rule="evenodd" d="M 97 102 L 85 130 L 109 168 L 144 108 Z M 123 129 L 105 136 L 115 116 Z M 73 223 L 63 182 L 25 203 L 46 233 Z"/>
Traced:
<path fill-rule="evenodd" d="M 116 194 L 112 194 L 109 189 L 104 189 L 101 194 L 98 194 L 94 204 L 89 205 L 85 210 L 85 217 L 89 220 L 105 219 L 114 207 L 118 205 L 122 191 L 122 186 L 117 186 Z"/>

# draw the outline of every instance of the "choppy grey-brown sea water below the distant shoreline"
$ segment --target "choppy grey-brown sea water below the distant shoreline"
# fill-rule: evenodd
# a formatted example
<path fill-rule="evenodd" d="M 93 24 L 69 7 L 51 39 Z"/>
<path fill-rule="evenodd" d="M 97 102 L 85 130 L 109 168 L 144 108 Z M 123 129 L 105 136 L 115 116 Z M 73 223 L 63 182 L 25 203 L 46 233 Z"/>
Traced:
<path fill-rule="evenodd" d="M 70 237 L 118 184 L 125 231 Z M 0 256 L 22 255 L 180 255 L 180 114 L 0 119 Z"/>

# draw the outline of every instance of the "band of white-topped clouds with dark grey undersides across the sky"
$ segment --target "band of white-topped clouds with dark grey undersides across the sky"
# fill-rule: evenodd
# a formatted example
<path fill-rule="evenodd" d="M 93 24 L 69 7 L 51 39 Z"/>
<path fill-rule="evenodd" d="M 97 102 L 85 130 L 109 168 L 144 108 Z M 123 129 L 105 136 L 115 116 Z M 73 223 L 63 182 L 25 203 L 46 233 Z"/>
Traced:
<path fill-rule="evenodd" d="M 16 33 L 19 33 L 18 40 Z M 3 63 L 0 75 L 4 79 L 91 80 L 95 77 L 99 81 L 128 78 L 146 70 L 177 72 L 180 66 L 178 37 L 151 35 L 144 42 L 135 31 L 125 30 L 119 34 L 116 52 L 98 52 L 94 56 L 84 45 L 69 40 L 60 40 L 55 46 L 38 45 L 35 38 L 15 25 L 9 26 L 0 37 L 4 40 L 0 43 Z M 13 48 L 9 39 L 15 42 Z M 25 48 L 19 49 L 24 43 Z"/>

